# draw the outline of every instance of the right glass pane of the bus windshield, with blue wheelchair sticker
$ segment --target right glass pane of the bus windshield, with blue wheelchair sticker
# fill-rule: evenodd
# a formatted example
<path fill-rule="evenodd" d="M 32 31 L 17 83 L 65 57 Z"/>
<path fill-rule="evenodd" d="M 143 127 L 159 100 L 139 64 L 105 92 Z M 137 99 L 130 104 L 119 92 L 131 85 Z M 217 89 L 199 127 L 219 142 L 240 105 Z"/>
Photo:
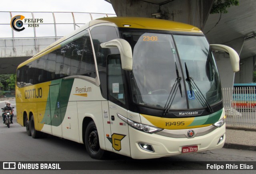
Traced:
<path fill-rule="evenodd" d="M 174 35 L 184 74 L 186 67 L 198 87 L 191 89 L 186 80 L 189 108 L 206 107 L 222 99 L 220 79 L 210 46 L 203 36 Z M 186 77 L 187 78 L 187 77 Z M 200 97 L 202 93 L 203 97 Z M 206 101 L 204 100 L 206 99 Z"/>

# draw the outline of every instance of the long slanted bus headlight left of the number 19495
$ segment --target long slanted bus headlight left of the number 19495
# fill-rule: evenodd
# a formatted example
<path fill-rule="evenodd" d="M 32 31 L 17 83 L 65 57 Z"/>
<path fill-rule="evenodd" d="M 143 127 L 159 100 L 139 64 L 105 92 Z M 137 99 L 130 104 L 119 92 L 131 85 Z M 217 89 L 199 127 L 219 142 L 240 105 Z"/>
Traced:
<path fill-rule="evenodd" d="M 137 123 L 135 121 L 132 121 L 122 115 L 120 115 L 119 113 L 117 113 L 117 116 L 122 119 L 124 122 L 126 122 L 128 125 L 130 125 L 132 128 L 137 129 L 139 131 L 142 132 L 146 132 L 146 133 L 157 133 L 159 131 L 162 131 L 163 129 L 158 128 L 158 127 L 154 127 L 154 126 L 150 126 L 150 125 L 144 125 L 142 123 Z"/>

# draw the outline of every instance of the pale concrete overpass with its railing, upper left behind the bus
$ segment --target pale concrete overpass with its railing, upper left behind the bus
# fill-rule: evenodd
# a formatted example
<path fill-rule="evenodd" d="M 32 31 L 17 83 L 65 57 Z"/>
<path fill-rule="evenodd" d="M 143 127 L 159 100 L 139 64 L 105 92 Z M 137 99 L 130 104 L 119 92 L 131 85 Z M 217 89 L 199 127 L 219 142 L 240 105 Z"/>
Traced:
<path fill-rule="evenodd" d="M 42 18 L 39 27 L 24 24 L 22 32 L 10 27 L 12 17 Z M 116 14 L 78 12 L 0 12 L 0 74 L 14 74 L 17 66 L 90 20 Z"/>

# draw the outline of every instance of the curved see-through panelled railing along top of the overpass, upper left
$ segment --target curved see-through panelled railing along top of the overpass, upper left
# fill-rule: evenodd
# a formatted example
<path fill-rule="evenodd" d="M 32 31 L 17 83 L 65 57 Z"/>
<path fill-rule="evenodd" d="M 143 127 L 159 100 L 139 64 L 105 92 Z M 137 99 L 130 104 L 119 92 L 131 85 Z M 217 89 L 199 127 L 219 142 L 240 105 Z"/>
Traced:
<path fill-rule="evenodd" d="M 14 31 L 10 25 L 16 15 L 25 16 L 25 19 L 42 19 L 40 23 L 23 23 L 23 31 Z M 86 12 L 2 12 L 0 11 L 0 39 L 62 37 L 81 25 L 103 17 L 113 17 L 116 14 L 86 13 Z M 31 27 L 33 26 L 33 27 Z"/>

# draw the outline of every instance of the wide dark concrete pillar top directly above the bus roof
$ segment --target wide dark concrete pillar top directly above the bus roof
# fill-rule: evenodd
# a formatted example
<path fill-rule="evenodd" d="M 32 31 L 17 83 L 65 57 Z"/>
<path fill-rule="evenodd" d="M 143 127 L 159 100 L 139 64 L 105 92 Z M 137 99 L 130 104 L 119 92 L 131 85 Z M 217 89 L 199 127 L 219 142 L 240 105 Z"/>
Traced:
<path fill-rule="evenodd" d="M 203 29 L 214 0 L 176 0 L 152 4 L 141 0 L 110 0 L 117 16 L 152 18 L 160 12 L 162 19 L 183 22 Z"/>

